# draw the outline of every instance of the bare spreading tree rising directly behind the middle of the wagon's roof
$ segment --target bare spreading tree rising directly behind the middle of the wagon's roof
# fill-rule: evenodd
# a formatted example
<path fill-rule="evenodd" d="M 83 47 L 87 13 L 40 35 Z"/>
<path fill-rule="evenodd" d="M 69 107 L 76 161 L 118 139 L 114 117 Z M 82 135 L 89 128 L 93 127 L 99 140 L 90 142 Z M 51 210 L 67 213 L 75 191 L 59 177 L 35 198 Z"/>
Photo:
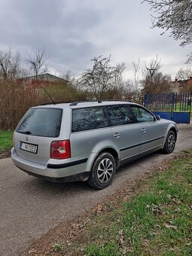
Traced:
<path fill-rule="evenodd" d="M 101 99 L 107 90 L 114 87 L 114 81 L 120 79 L 117 67 L 110 65 L 110 57 L 94 57 L 91 59 L 93 67 L 81 75 L 81 87 L 90 91 L 96 99 Z"/>

